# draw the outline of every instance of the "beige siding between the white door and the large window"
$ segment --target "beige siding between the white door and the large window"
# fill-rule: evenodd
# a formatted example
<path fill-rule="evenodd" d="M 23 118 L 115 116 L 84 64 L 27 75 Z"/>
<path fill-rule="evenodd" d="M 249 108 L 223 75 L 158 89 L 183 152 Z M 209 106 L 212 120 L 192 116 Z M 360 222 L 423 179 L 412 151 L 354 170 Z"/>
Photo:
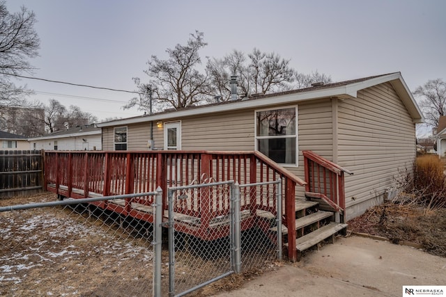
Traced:
<path fill-rule="evenodd" d="M 182 150 L 254 150 L 254 109 L 184 118 Z"/>

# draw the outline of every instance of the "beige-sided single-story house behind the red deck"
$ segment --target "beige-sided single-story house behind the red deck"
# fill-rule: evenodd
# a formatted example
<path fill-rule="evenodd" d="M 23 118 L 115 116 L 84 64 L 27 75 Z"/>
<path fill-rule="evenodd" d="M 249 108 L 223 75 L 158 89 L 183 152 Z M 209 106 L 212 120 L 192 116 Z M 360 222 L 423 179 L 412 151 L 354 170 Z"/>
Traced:
<path fill-rule="evenodd" d="M 395 179 L 413 168 L 423 120 L 397 72 L 98 127 L 103 150 L 258 150 L 302 179 L 302 150 L 312 150 L 354 173 L 345 179 L 349 219 L 395 193 Z"/>

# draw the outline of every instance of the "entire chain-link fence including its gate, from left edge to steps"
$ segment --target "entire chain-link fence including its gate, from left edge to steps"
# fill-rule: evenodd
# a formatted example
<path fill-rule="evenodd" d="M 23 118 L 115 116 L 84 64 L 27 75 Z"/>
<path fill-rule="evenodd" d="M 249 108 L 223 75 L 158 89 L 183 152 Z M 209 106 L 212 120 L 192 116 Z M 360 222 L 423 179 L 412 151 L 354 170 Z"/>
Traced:
<path fill-rule="evenodd" d="M 183 296 L 231 273 L 268 270 L 282 257 L 281 189 L 280 181 L 169 188 L 164 213 L 160 188 L 0 203 L 0 296 Z"/>

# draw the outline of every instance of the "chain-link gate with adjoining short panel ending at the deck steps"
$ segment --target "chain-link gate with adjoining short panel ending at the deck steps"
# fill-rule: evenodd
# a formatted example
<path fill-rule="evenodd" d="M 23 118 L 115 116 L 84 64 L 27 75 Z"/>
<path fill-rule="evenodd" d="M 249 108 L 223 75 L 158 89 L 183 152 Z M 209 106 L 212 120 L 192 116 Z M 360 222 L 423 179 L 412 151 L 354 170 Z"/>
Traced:
<path fill-rule="evenodd" d="M 167 193 L 169 297 L 184 296 L 231 273 L 262 268 L 267 260 L 282 258 L 281 181 L 195 184 L 169 188 Z M 277 211 L 257 209 L 262 199 Z M 276 232 L 270 230 L 274 225 Z"/>

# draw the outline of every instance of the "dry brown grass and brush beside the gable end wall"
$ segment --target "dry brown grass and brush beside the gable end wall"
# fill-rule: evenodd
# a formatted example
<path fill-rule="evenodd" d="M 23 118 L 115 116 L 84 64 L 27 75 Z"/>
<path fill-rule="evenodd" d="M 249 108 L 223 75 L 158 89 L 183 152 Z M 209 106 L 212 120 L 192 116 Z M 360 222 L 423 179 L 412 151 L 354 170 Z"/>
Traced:
<path fill-rule="evenodd" d="M 438 156 L 420 156 L 413 174 L 399 180 L 403 180 L 403 193 L 392 202 L 368 209 L 362 216 L 349 220 L 349 229 L 384 236 L 394 243 L 420 243 L 426 252 L 446 257 L 446 176 L 443 163 Z"/>

